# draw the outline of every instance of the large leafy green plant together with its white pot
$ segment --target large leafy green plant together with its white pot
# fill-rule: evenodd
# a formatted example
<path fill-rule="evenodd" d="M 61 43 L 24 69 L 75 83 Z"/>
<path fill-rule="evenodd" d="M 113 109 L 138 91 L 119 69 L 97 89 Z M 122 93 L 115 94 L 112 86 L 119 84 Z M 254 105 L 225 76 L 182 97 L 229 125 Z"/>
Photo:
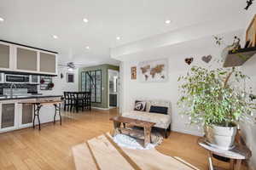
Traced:
<path fill-rule="evenodd" d="M 250 119 L 255 109 L 246 89 L 241 86 L 248 77 L 235 67 L 209 70 L 193 66 L 182 82 L 177 105 L 190 123 L 204 127 L 209 144 L 223 150 L 233 147 L 238 122 Z"/>

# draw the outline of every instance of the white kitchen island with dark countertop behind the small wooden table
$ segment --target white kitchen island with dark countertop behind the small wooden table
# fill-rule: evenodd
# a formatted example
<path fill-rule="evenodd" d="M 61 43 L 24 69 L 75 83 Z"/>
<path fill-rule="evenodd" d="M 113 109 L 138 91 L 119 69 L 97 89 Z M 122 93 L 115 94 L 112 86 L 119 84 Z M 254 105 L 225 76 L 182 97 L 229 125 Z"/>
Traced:
<path fill-rule="evenodd" d="M 23 96 L 1 96 L 0 97 L 0 133 L 13 131 L 20 128 L 33 126 L 33 105 L 22 103 L 42 100 L 60 100 L 61 95 L 23 95 Z M 53 122 L 55 106 L 45 105 L 40 110 L 40 122 Z M 57 115 L 55 120 L 60 120 Z M 38 122 L 35 122 L 36 125 Z"/>

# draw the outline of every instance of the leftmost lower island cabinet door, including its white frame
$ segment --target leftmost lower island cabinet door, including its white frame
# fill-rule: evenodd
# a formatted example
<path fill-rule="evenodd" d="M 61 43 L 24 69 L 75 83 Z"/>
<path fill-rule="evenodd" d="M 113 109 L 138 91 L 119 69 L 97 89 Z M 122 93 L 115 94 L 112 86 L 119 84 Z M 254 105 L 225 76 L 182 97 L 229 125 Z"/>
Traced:
<path fill-rule="evenodd" d="M 0 132 L 8 132 L 15 129 L 15 103 L 0 105 Z"/>

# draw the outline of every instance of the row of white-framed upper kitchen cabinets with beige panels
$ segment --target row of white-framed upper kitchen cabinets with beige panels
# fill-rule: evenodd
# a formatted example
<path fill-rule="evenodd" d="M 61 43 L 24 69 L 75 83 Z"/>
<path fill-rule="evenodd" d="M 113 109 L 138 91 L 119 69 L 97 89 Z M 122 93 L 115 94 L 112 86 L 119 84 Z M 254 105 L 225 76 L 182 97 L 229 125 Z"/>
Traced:
<path fill-rule="evenodd" d="M 0 71 L 56 75 L 57 54 L 11 42 L 0 42 Z"/>

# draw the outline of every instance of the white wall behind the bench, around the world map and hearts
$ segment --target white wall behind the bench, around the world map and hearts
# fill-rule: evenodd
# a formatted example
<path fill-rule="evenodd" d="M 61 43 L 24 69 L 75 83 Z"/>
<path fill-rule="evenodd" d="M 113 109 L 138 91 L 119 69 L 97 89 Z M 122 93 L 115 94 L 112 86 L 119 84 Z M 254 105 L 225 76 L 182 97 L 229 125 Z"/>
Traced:
<path fill-rule="evenodd" d="M 227 43 L 231 43 L 233 37 L 241 36 L 242 31 L 234 31 L 221 35 Z M 178 91 L 179 82 L 177 78 L 185 75 L 193 65 L 205 67 L 222 67 L 216 60 L 221 59 L 221 48 L 214 44 L 213 37 L 204 37 L 195 41 L 181 43 L 175 46 L 160 48 L 154 51 L 146 51 L 139 54 L 127 56 L 127 59 L 120 66 L 121 79 L 121 111 L 129 111 L 133 108 L 136 99 L 165 99 L 172 102 L 172 131 L 202 135 L 201 129 L 197 126 L 190 126 L 188 117 L 179 115 L 177 99 L 180 97 Z M 212 61 L 207 64 L 201 60 L 204 55 L 211 54 Z M 194 57 L 191 65 L 184 62 L 185 58 Z M 139 61 L 148 59 L 167 58 L 169 61 L 169 75 L 167 82 L 140 82 L 131 80 L 131 66 L 137 66 Z M 139 68 L 137 68 L 139 69 Z"/>

